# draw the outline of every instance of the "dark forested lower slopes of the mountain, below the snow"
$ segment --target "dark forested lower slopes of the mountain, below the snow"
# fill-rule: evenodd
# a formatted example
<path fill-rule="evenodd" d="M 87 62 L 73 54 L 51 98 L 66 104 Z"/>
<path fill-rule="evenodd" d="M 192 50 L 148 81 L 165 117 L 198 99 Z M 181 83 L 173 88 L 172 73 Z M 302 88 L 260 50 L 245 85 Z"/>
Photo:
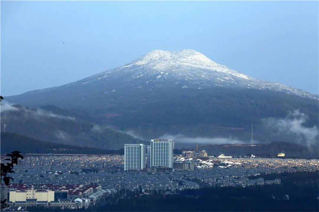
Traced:
<path fill-rule="evenodd" d="M 120 131 L 131 130 L 145 139 L 183 134 L 249 141 L 253 118 L 254 138 L 261 143 L 273 140 L 296 143 L 298 140 L 293 134 L 274 133 L 274 129 L 263 122 L 270 117 L 285 118 L 295 110 L 307 116 L 305 127 L 318 127 L 317 100 L 271 90 L 182 89 L 170 84 L 130 89 L 118 83 L 89 84 L 48 88 L 7 99 L 31 107 L 51 104 L 85 113 L 86 120 L 112 125 Z M 103 92 L 112 86 L 119 88 L 116 92 Z M 83 98 L 83 93 L 88 95 Z"/>

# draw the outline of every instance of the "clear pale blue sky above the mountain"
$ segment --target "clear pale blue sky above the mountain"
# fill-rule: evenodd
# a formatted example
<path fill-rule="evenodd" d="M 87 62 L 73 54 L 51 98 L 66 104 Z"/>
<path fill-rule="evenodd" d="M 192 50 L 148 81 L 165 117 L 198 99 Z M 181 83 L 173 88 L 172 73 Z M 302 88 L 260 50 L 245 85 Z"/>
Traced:
<path fill-rule="evenodd" d="M 318 2 L 1 1 L 1 95 L 80 80 L 155 49 L 194 49 L 318 94 Z"/>

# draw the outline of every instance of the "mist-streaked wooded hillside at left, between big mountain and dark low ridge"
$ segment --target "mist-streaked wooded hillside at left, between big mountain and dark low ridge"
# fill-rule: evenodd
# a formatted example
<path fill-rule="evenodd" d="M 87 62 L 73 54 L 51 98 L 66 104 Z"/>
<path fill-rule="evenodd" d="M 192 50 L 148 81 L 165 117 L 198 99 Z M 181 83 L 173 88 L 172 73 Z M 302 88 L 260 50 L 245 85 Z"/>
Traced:
<path fill-rule="evenodd" d="M 6 124 L 7 132 L 66 145 L 120 149 L 124 144 L 143 142 L 108 126 L 84 121 L 72 115 L 73 113 L 54 113 L 51 110 L 13 105 L 11 110 L 1 112 L 1 123 Z M 3 131 L 3 125 L 1 129 Z"/>

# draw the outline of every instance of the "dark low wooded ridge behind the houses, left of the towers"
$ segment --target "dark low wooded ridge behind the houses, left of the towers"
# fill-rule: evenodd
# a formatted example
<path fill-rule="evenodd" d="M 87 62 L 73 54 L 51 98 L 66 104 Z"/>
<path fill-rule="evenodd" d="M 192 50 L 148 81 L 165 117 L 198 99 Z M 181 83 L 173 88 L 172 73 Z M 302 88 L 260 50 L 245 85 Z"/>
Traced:
<path fill-rule="evenodd" d="M 7 154 L 15 150 L 22 152 L 22 154 L 124 154 L 124 149 L 107 150 L 86 146 L 64 145 L 40 141 L 17 133 L 1 132 L 1 154 Z"/>

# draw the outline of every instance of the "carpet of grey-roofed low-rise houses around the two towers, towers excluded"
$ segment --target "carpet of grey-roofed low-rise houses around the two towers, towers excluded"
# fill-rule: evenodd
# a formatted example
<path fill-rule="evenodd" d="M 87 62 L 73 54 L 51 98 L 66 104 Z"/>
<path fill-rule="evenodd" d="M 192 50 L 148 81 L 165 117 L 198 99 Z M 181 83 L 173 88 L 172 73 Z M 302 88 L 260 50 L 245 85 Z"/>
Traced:
<path fill-rule="evenodd" d="M 251 180 L 249 177 L 270 173 L 314 172 L 319 169 L 317 159 L 193 159 L 175 156 L 175 165 L 182 163 L 192 166 L 132 172 L 124 172 L 123 163 L 123 156 L 120 155 L 25 157 L 14 167 L 15 173 L 11 177 L 16 184 L 10 185 L 7 192 L 64 190 L 68 194 L 50 202 L 29 198 L 20 203 L 13 203 L 9 199 L 8 203 L 11 206 L 87 208 L 92 204 L 105 203 L 120 190 L 129 194 L 175 194 L 184 189 L 198 189 L 203 185 L 246 187 L 280 184 L 280 179 Z"/>

